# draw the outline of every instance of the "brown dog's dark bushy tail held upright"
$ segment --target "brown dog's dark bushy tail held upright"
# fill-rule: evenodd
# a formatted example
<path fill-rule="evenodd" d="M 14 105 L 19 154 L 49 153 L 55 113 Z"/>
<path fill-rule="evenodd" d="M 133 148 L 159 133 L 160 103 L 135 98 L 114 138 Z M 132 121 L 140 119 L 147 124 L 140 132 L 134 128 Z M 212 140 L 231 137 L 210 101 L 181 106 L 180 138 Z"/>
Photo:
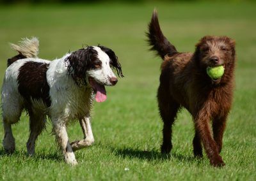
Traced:
<path fill-rule="evenodd" d="M 154 10 L 151 22 L 148 24 L 147 36 L 148 43 L 152 46 L 150 50 L 156 50 L 157 54 L 160 55 L 162 59 L 164 59 L 166 54 L 177 54 L 176 48 L 167 40 L 161 31 L 156 10 Z"/>

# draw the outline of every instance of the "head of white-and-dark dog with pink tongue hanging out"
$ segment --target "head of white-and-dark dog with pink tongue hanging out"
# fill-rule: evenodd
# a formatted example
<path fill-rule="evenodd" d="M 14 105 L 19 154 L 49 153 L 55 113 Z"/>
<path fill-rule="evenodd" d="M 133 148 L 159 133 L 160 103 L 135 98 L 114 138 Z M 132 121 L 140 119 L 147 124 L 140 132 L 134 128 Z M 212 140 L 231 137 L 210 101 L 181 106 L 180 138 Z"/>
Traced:
<path fill-rule="evenodd" d="M 113 50 L 103 47 L 86 47 L 72 52 L 66 59 L 68 75 L 71 75 L 79 87 L 90 85 L 96 92 L 96 101 L 106 100 L 104 85 L 113 86 L 117 78 L 112 69 L 116 69 L 119 77 L 123 77 L 122 67 Z"/>

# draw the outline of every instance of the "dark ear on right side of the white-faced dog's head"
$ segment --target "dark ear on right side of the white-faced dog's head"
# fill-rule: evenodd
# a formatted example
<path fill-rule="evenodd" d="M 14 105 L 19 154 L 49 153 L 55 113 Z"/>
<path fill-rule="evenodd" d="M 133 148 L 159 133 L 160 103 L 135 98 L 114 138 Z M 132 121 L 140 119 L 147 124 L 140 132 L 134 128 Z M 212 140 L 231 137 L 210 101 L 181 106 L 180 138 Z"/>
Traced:
<path fill-rule="evenodd" d="M 116 69 L 118 76 L 124 77 L 124 75 L 122 73 L 122 66 L 121 66 L 120 62 L 118 61 L 118 57 L 116 56 L 115 52 L 113 52 L 113 50 L 111 50 L 110 48 L 103 47 L 101 45 L 98 45 L 98 47 L 100 47 L 100 49 L 109 56 L 109 59 L 111 59 L 110 66 L 112 68 Z"/>

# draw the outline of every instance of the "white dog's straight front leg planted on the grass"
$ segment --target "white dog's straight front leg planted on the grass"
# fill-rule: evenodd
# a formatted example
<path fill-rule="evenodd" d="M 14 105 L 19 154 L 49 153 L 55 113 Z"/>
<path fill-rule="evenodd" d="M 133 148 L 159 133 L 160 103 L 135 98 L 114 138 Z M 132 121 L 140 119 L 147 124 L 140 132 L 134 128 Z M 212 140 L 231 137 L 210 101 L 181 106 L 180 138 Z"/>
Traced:
<path fill-rule="evenodd" d="M 76 165 L 76 157 L 68 141 L 68 134 L 66 131 L 66 126 L 63 124 L 63 121 L 54 120 L 53 129 L 56 135 L 56 140 L 63 151 L 66 163 Z"/>

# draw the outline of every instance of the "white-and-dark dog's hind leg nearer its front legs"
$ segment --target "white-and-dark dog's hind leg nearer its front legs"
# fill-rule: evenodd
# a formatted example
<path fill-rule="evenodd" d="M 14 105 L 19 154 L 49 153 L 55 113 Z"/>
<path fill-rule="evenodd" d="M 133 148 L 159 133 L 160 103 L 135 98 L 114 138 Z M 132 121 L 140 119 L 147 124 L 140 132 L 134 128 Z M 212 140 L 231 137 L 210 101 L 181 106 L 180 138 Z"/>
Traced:
<path fill-rule="evenodd" d="M 38 138 L 38 135 L 42 133 L 43 129 L 45 128 L 46 123 L 46 116 L 44 113 L 35 114 L 35 113 L 29 113 L 29 138 L 27 142 L 27 150 L 28 155 L 32 156 L 35 154 L 35 142 Z"/>

